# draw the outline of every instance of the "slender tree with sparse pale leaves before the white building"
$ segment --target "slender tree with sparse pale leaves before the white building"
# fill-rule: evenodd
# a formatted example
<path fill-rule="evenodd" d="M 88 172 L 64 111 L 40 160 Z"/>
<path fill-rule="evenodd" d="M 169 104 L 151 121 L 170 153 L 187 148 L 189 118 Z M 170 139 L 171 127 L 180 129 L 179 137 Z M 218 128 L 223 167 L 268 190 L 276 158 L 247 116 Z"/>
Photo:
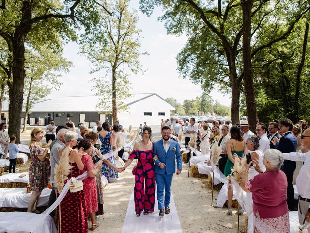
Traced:
<path fill-rule="evenodd" d="M 82 53 L 95 65 L 91 72 L 106 71 L 105 76 L 94 78 L 93 81 L 97 95 L 101 98 L 97 107 L 112 112 L 113 122 L 117 119 L 117 111 L 126 109 L 124 101 L 130 97 L 126 68 L 137 74 L 141 71 L 140 55 L 146 54 L 139 51 L 140 30 L 136 28 L 138 16 L 136 11 L 129 10 L 129 1 L 106 2 L 111 14 L 101 12 L 102 28 L 97 32 L 95 43 L 86 43 L 82 49 Z M 102 43 L 102 38 L 106 38 L 107 43 Z"/>

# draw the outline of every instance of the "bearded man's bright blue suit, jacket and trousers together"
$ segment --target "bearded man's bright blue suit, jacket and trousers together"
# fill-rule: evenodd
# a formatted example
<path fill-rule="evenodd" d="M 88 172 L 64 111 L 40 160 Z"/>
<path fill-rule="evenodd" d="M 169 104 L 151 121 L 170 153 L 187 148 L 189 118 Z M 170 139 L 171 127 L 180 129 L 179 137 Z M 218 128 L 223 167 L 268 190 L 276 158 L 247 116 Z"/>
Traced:
<path fill-rule="evenodd" d="M 167 152 L 163 146 L 163 139 L 155 142 L 154 146 L 154 156 L 158 156 L 158 160 L 155 162 L 155 178 L 157 183 L 157 200 L 159 210 L 163 210 L 164 207 L 169 207 L 172 177 L 173 173 L 175 173 L 175 158 L 177 160 L 178 170 L 182 170 L 180 146 L 176 141 L 171 139 L 169 140 L 170 145 Z M 160 163 L 164 163 L 166 166 L 164 168 L 160 168 Z"/>

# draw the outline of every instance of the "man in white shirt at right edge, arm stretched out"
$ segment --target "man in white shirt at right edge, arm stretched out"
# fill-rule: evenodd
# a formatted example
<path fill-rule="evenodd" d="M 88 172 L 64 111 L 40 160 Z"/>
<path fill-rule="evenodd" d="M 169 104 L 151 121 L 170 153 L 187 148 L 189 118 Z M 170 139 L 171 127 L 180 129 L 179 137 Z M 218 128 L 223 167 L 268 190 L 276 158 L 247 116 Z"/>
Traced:
<path fill-rule="evenodd" d="M 298 218 L 299 223 L 303 224 L 304 218 L 310 216 L 310 128 L 304 131 L 301 138 L 304 147 L 302 152 L 307 151 L 306 153 L 291 152 L 283 155 L 284 159 L 304 162 L 296 179 L 299 194 Z M 310 217 L 306 221 L 310 222 Z"/>

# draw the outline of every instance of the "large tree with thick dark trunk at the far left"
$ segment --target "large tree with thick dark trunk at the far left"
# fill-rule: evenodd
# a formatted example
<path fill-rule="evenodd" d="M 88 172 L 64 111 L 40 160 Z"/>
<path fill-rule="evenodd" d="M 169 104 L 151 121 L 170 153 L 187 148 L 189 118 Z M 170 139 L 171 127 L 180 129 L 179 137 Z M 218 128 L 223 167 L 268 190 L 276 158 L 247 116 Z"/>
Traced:
<path fill-rule="evenodd" d="M 81 4 L 81 2 L 83 4 Z M 12 76 L 9 85 L 9 134 L 20 139 L 20 120 L 25 83 L 25 48 L 30 37 L 44 38 L 46 46 L 54 47 L 61 38 L 74 39 L 73 26 L 96 22 L 94 1 L 2 1 L 0 36 L 12 49 Z M 89 20 L 88 20 L 89 19 Z M 90 20 L 91 19 L 91 20 Z M 55 38 L 55 35 L 58 35 Z M 48 40 L 50 39 L 50 40 Z M 39 40 L 37 40 L 38 42 Z M 29 42 L 29 41 L 28 41 Z M 54 42 L 54 43 L 53 43 Z M 2 67 L 2 66 L 1 66 Z"/>

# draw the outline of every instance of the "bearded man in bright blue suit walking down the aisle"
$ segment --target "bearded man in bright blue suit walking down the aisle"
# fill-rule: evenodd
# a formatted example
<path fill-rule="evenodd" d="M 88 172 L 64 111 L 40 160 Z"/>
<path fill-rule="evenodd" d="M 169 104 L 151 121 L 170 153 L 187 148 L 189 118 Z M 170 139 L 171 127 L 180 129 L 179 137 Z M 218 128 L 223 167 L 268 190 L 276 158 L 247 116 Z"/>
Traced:
<path fill-rule="evenodd" d="M 178 166 L 178 170 L 176 171 L 177 175 L 181 174 L 182 160 L 179 144 L 170 139 L 171 128 L 168 126 L 162 127 L 161 135 L 163 139 L 155 142 L 154 156 L 158 156 L 158 159 L 155 161 L 155 179 L 157 183 L 159 216 L 163 217 L 165 214 L 170 213 L 169 203 L 171 197 L 172 177 L 175 172 L 175 158 Z"/>

